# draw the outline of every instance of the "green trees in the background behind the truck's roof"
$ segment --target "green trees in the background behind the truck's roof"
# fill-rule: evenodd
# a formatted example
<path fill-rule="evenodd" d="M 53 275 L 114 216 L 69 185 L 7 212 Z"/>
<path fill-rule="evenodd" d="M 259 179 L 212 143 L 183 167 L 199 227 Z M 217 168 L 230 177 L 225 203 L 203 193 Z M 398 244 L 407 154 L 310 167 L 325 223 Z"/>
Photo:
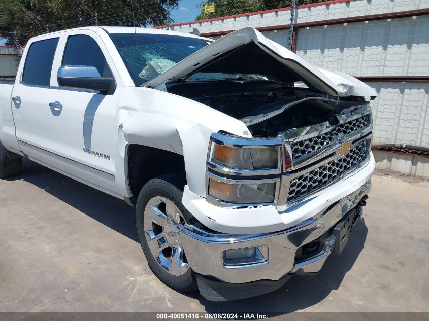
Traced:
<path fill-rule="evenodd" d="M 94 25 L 149 26 L 165 24 L 168 0 L 0 0 L 0 37 L 21 45 L 30 37 L 70 27 Z M 176 8 L 179 0 L 170 0 Z M 134 9 L 134 19 L 133 19 Z"/>

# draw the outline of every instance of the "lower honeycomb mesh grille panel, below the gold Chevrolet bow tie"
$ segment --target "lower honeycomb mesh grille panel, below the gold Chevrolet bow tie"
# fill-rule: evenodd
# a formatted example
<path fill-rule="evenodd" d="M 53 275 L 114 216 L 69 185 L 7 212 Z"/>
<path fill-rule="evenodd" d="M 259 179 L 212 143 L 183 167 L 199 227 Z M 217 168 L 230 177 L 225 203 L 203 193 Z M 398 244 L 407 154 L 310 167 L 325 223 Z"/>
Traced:
<path fill-rule="evenodd" d="M 358 167 L 368 156 L 369 140 L 353 146 L 347 154 L 290 181 L 287 202 L 301 199 L 335 182 L 341 175 Z"/>

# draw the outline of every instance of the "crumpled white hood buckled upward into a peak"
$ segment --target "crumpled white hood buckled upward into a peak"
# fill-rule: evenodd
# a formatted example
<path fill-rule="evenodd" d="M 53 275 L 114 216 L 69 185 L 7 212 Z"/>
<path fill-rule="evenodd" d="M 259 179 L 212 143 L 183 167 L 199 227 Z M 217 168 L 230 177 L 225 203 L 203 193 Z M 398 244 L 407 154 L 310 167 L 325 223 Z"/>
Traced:
<path fill-rule="evenodd" d="M 179 61 L 166 72 L 145 83 L 144 86 L 162 89 L 166 82 L 186 79 L 199 72 L 204 66 L 220 60 L 222 54 L 239 49 L 239 47 L 244 48 L 251 42 L 257 46 L 255 50 L 262 50 L 269 54 L 281 63 L 280 66 L 284 66 L 285 73 L 290 74 L 292 71 L 299 75 L 310 88 L 333 96 L 376 96 L 375 90 L 365 83 L 343 73 L 317 68 L 285 47 L 264 37 L 262 33 L 252 27 L 239 29 L 212 42 Z M 243 56 L 243 60 L 245 59 L 246 55 Z"/>

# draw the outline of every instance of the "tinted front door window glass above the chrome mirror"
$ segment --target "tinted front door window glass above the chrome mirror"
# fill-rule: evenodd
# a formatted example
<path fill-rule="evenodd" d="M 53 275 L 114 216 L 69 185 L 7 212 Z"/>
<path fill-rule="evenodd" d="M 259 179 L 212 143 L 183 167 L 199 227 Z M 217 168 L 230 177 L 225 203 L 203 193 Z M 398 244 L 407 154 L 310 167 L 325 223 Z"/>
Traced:
<path fill-rule="evenodd" d="M 71 35 L 65 45 L 62 66 L 93 66 L 103 77 L 113 77 L 97 42 L 89 35 Z"/>

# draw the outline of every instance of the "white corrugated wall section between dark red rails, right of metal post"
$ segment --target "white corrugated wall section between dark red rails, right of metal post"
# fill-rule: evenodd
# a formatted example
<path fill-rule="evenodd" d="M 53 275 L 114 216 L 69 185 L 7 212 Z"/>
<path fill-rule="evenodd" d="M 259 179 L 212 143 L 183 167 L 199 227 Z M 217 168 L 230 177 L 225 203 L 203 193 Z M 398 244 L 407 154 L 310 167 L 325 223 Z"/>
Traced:
<path fill-rule="evenodd" d="M 429 75 L 429 17 L 302 28 L 296 53 L 356 76 Z"/>

